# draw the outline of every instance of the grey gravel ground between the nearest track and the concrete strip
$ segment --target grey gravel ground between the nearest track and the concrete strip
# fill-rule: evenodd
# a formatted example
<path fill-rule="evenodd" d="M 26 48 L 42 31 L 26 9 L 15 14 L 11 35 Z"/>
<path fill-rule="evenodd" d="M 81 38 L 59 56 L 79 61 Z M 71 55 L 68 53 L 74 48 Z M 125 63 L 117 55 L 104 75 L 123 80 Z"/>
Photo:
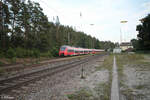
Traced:
<path fill-rule="evenodd" d="M 97 84 L 108 81 L 108 70 L 96 71 L 96 67 L 102 65 L 104 58 L 105 56 L 100 57 L 84 65 L 22 86 L 7 95 L 13 96 L 15 100 L 68 100 L 67 94 L 74 93 L 82 87 L 94 88 Z M 82 67 L 85 79 L 81 79 Z"/>

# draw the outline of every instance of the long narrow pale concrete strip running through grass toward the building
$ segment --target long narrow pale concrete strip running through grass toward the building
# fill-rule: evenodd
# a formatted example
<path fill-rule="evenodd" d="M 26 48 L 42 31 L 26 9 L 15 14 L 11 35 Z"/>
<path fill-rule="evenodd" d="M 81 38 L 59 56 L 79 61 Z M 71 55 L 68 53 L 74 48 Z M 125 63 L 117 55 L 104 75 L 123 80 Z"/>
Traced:
<path fill-rule="evenodd" d="M 119 100 L 118 73 L 115 56 L 112 73 L 111 100 Z"/>

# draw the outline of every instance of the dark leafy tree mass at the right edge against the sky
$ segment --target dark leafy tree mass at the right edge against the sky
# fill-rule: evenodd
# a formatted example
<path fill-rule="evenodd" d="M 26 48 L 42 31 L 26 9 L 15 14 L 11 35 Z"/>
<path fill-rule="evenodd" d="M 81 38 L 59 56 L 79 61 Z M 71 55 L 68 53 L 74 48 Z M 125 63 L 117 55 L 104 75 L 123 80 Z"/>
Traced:
<path fill-rule="evenodd" d="M 136 50 L 150 51 L 150 14 L 140 20 L 137 25 L 138 39 L 132 39 L 131 42 Z"/>

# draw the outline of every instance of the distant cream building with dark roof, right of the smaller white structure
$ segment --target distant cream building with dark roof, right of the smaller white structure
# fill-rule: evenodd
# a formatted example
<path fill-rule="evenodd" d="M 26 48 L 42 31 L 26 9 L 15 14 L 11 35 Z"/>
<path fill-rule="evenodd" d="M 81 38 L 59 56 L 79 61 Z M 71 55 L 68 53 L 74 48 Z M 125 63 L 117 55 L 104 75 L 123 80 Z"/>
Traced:
<path fill-rule="evenodd" d="M 133 49 L 133 46 L 130 42 L 122 42 L 120 44 L 120 48 L 122 51 L 131 51 Z"/>

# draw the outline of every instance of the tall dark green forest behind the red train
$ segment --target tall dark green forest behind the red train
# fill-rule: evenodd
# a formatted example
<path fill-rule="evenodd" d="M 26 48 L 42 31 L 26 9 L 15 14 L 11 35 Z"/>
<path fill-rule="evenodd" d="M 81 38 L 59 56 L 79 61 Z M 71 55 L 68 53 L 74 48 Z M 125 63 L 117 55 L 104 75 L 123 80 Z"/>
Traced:
<path fill-rule="evenodd" d="M 70 26 L 49 22 L 40 4 L 30 0 L 1 0 L 0 30 L 0 56 L 57 56 L 64 44 L 96 49 L 115 47 L 110 41 L 99 41 Z"/>

